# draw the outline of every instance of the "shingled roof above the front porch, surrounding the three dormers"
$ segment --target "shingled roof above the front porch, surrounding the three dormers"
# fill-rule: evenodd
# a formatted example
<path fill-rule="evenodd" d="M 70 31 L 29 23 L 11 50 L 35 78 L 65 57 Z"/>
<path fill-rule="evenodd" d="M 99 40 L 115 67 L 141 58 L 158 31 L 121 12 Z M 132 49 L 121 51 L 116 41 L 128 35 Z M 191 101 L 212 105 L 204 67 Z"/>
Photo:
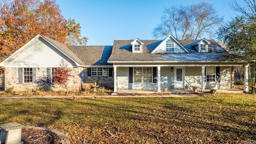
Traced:
<path fill-rule="evenodd" d="M 190 53 L 152 53 L 162 40 L 141 40 L 142 53 L 132 53 L 130 43 L 133 40 L 114 40 L 112 54 L 108 62 L 149 62 L 149 61 L 169 61 L 169 62 L 206 62 L 206 61 L 227 61 L 226 50 L 215 40 L 208 40 L 208 53 L 200 53 L 191 46 L 198 40 L 178 40 Z"/>

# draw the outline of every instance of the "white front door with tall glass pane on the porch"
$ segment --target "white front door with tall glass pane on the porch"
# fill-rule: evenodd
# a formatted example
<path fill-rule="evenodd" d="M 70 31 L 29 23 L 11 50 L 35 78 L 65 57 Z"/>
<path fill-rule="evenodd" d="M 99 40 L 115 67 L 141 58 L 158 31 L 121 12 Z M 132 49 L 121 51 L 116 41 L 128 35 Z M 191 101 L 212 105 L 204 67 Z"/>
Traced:
<path fill-rule="evenodd" d="M 184 88 L 184 68 L 174 68 L 174 88 Z"/>

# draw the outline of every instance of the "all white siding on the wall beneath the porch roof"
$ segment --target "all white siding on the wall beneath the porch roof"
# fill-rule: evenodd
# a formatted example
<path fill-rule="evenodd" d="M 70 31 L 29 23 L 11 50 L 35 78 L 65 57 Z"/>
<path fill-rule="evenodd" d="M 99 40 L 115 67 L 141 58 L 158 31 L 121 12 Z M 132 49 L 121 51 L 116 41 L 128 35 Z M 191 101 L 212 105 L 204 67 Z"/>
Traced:
<path fill-rule="evenodd" d="M 173 67 L 174 68 L 174 67 Z M 184 68 L 184 84 L 202 86 L 202 67 L 187 66 Z M 220 66 L 221 82 L 206 82 L 206 89 L 230 88 L 230 66 Z M 171 67 L 161 67 L 161 88 L 165 84 L 168 88 L 174 85 L 174 71 Z M 229 85 L 228 85 L 229 84 Z M 157 89 L 157 83 L 129 83 L 129 67 L 118 67 L 118 88 L 120 89 Z"/>

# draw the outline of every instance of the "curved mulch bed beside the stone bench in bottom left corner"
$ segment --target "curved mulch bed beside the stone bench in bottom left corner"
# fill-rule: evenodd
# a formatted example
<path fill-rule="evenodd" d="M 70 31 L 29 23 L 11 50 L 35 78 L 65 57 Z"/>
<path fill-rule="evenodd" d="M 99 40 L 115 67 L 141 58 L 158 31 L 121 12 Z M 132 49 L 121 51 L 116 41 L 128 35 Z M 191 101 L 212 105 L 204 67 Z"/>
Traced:
<path fill-rule="evenodd" d="M 22 128 L 21 140 L 24 144 L 62 144 L 57 134 L 34 128 Z"/>

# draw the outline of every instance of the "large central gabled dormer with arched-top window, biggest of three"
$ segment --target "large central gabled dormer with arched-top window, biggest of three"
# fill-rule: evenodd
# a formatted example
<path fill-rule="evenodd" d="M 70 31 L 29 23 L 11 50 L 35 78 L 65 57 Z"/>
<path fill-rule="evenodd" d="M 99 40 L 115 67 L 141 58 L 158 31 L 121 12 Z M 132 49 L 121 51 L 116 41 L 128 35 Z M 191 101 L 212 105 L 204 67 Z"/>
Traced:
<path fill-rule="evenodd" d="M 189 53 L 172 35 L 167 36 L 156 46 L 152 53 Z"/>

